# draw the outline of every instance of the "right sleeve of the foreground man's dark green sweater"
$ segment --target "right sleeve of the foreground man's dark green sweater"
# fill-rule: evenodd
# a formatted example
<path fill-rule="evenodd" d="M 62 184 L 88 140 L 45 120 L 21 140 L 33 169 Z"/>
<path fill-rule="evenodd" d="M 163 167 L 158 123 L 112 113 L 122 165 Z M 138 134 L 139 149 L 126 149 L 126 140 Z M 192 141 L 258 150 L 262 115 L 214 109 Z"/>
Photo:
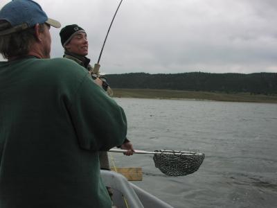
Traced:
<path fill-rule="evenodd" d="M 85 76 L 69 108 L 81 148 L 109 150 L 123 144 L 127 121 L 123 109 Z"/>

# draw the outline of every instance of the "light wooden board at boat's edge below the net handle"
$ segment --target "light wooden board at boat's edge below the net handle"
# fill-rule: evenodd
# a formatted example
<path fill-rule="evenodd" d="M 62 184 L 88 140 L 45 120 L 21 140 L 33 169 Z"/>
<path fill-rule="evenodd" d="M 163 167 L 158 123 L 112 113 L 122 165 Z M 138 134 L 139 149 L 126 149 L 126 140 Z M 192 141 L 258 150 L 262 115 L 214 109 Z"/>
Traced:
<path fill-rule="evenodd" d="M 142 168 L 111 168 L 111 171 L 115 171 L 124 175 L 129 181 L 141 181 L 143 180 Z"/>

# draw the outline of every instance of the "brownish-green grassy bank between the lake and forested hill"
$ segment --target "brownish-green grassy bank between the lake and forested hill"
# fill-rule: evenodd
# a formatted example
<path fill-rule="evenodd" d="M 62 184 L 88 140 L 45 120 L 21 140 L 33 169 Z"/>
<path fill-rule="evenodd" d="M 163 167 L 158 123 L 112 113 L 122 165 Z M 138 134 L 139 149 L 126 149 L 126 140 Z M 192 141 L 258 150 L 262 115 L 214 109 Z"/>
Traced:
<path fill-rule="evenodd" d="M 160 99 L 196 99 L 212 101 L 233 101 L 253 103 L 277 103 L 277 95 L 252 95 L 247 93 L 226 94 L 220 92 L 193 92 L 168 89 L 113 89 L 118 98 L 160 98 Z"/>

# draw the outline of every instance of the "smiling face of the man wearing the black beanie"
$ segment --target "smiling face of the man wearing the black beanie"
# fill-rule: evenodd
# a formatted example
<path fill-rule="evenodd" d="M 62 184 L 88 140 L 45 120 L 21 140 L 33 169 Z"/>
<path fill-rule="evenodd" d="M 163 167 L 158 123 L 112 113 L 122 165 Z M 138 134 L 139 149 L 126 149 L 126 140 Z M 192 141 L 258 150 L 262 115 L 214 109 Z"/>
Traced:
<path fill-rule="evenodd" d="M 77 55 L 85 56 L 89 53 L 89 42 L 86 33 L 77 33 L 70 42 L 65 45 L 67 51 Z"/>

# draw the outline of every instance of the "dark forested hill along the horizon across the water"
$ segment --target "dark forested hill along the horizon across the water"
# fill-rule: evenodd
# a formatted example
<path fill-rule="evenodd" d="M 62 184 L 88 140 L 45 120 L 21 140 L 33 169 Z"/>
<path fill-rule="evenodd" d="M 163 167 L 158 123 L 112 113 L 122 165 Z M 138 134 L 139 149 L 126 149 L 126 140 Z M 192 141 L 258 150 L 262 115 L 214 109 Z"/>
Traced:
<path fill-rule="evenodd" d="M 114 88 L 277 94 L 277 73 L 123 73 L 106 76 Z"/>

